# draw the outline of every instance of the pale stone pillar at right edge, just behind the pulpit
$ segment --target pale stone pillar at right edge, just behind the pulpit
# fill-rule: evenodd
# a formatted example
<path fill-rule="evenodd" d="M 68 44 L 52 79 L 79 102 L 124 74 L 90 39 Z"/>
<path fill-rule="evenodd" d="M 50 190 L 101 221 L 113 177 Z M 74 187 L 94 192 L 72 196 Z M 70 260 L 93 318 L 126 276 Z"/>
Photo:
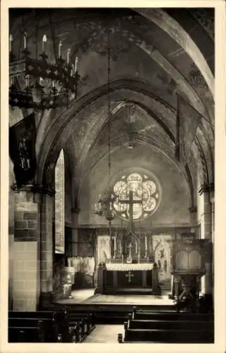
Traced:
<path fill-rule="evenodd" d="M 208 254 L 205 256 L 206 275 L 201 278 L 201 292 L 203 294 L 213 293 L 213 277 L 212 277 L 212 236 L 213 236 L 213 215 L 210 196 L 214 192 L 213 184 L 207 184 L 201 187 L 198 191 L 203 198 L 203 215 L 201 215 L 201 239 L 207 239 Z"/>

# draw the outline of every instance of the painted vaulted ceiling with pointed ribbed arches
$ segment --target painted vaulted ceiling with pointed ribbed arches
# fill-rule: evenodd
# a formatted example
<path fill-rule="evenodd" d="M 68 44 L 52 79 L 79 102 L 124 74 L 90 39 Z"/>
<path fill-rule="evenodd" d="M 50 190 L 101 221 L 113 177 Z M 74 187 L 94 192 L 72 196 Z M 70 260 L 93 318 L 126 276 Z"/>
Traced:
<path fill-rule="evenodd" d="M 23 32 L 35 56 L 47 35 L 47 54 L 54 59 L 59 40 L 66 57 L 78 56 L 78 100 L 69 109 L 39 117 L 37 154 L 40 176 L 54 166 L 64 148 L 71 177 L 79 180 L 107 153 L 107 30 L 110 35 L 112 150 L 129 143 L 128 107 L 135 106 L 135 143 L 155 146 L 174 158 L 177 94 L 203 116 L 191 145 L 189 171 L 213 181 L 214 155 L 214 11 L 198 8 L 54 9 L 11 12 L 13 50 Z M 186 116 L 191 119 L 192 116 Z M 187 176 L 184 166 L 179 168 Z M 49 169 L 48 169 L 49 170 Z M 51 174 L 51 172 L 49 172 Z"/>

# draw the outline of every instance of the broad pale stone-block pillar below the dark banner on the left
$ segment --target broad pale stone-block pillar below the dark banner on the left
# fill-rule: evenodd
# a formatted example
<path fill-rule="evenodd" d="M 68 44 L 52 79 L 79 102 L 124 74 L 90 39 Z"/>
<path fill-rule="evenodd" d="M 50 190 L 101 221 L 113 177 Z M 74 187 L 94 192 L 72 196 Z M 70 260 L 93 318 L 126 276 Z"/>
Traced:
<path fill-rule="evenodd" d="M 14 191 L 13 310 L 35 311 L 40 294 L 40 222 L 33 185 Z"/>

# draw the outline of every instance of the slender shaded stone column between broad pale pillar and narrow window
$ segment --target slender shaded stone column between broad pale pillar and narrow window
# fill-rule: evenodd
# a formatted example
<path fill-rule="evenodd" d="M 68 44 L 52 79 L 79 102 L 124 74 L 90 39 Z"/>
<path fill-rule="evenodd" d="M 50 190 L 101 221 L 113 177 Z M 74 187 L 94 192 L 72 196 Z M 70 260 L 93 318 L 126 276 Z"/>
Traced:
<path fill-rule="evenodd" d="M 53 287 L 54 191 L 40 188 L 40 305 L 49 301 Z"/>

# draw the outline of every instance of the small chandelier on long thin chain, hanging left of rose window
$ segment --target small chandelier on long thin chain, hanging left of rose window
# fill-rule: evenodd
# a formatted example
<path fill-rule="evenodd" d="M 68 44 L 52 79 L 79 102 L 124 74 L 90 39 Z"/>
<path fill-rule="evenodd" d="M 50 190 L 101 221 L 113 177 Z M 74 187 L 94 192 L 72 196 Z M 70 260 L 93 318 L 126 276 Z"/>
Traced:
<path fill-rule="evenodd" d="M 111 103 L 110 103 L 110 29 L 107 31 L 107 123 L 108 123 L 108 191 L 95 203 L 95 213 L 105 217 L 111 225 L 114 220 L 114 197 L 111 190 Z"/>

